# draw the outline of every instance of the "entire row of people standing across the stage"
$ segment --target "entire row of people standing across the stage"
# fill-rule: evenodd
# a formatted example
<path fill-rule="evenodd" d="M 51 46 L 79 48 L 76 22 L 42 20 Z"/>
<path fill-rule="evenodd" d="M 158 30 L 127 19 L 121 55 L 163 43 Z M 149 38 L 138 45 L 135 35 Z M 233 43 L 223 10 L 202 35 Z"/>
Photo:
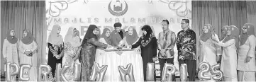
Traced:
<path fill-rule="evenodd" d="M 135 28 L 129 27 L 126 31 L 121 29 L 121 23 L 115 23 L 115 30 L 104 28 L 100 35 L 96 25 L 89 25 L 87 33 L 82 40 L 79 31 L 70 27 L 63 41 L 60 35 L 60 25 L 53 25 L 48 37 L 48 65 L 52 68 L 49 78 L 55 81 L 56 64 L 69 65 L 65 76 L 68 81 L 74 81 L 74 63 L 81 62 L 82 72 L 80 81 L 89 81 L 92 66 L 97 60 L 97 52 L 113 47 L 128 47 L 141 52 L 143 59 L 143 74 L 146 81 L 147 63 L 159 60 L 160 71 L 165 63 L 174 64 L 174 46 L 177 45 L 179 66 L 187 64 L 189 81 L 195 81 L 196 59 L 199 63 L 206 61 L 211 66 L 221 62 L 224 81 L 255 81 L 255 31 L 252 24 L 246 23 L 242 27 L 242 33 L 234 25 L 226 25 L 222 28 L 222 36 L 219 39 L 210 24 L 204 25 L 202 35 L 199 37 L 199 47 L 196 49 L 196 33 L 189 28 L 189 20 L 182 19 L 183 30 L 177 33 L 169 30 L 169 21 L 162 21 L 162 32 L 155 37 L 150 25 L 141 28 L 143 35 L 138 37 Z M 124 42 L 124 43 L 121 43 Z M 38 45 L 29 30 L 23 31 L 23 38 L 18 40 L 15 31 L 9 30 L 4 40 L 3 55 L 6 62 L 17 64 L 30 64 L 30 81 L 36 81 L 35 56 Z M 139 50 L 138 50 L 139 48 Z M 158 55 L 157 55 L 158 49 Z M 19 57 L 18 57 L 19 52 Z M 196 53 L 198 52 L 198 53 Z M 18 58 L 20 63 L 18 63 Z M 238 70 L 238 71 L 237 71 Z M 211 72 L 208 73 L 211 75 Z M 16 78 L 12 77 L 13 80 Z M 173 81 L 175 81 L 173 76 Z"/>

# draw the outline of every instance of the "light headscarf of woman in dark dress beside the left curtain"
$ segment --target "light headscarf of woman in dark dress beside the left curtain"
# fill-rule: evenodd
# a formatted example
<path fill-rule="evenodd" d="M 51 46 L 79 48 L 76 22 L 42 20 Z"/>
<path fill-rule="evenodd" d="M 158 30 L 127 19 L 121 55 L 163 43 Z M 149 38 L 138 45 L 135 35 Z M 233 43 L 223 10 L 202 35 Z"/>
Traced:
<path fill-rule="evenodd" d="M 63 43 L 63 38 L 60 34 L 57 34 L 57 29 L 60 28 L 60 25 L 53 25 L 52 31 L 48 37 L 48 42 L 52 45 L 61 45 Z"/>

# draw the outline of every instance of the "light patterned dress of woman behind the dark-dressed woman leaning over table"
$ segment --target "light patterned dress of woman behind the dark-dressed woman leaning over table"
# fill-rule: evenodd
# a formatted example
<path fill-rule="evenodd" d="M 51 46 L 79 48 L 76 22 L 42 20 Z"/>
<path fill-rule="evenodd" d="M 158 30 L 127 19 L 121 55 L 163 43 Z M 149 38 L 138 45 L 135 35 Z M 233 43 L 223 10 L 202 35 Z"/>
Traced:
<path fill-rule="evenodd" d="M 80 50 L 82 47 L 72 47 L 70 42 L 65 43 L 65 52 L 62 58 L 62 67 L 64 65 L 69 66 L 69 69 L 65 72 L 65 77 L 67 81 L 74 81 L 74 62 L 78 54 L 80 54 Z"/>

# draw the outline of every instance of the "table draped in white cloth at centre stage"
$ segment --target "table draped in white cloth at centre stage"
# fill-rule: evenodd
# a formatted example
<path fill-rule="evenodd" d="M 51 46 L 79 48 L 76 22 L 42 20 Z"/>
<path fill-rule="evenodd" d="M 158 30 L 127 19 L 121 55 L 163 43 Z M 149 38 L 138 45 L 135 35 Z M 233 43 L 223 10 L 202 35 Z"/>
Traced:
<path fill-rule="evenodd" d="M 144 81 L 143 79 L 143 59 L 140 52 L 118 51 L 118 52 L 96 52 L 96 62 L 100 66 L 108 65 L 104 81 L 121 81 L 118 66 L 126 67 L 133 65 L 133 75 L 135 81 Z M 144 71 L 145 72 L 145 71 Z"/>

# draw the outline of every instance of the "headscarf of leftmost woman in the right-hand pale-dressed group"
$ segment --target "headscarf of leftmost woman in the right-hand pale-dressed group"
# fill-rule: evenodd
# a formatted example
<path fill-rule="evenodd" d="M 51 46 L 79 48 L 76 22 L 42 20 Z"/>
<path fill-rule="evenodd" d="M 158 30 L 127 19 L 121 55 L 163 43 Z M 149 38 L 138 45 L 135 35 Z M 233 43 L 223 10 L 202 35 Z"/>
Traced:
<path fill-rule="evenodd" d="M 208 40 L 209 38 L 211 38 L 211 34 L 214 32 L 213 31 L 213 26 L 210 24 L 205 24 L 204 26 L 206 26 L 206 29 L 208 29 L 207 33 L 204 33 L 200 36 L 200 40 L 206 42 L 206 40 Z"/>

